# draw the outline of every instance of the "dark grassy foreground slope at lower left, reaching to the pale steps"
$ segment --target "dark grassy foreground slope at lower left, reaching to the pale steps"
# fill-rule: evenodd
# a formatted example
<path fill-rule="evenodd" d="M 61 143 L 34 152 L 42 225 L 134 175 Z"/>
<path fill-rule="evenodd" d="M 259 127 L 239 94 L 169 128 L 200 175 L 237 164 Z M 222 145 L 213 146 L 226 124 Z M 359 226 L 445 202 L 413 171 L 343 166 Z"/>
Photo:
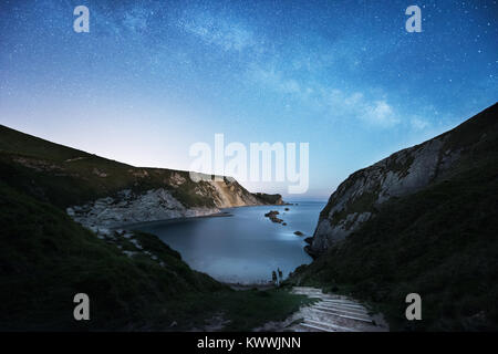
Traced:
<path fill-rule="evenodd" d="M 283 291 L 232 291 L 152 235 L 135 235 L 143 250 L 128 257 L 123 251 L 137 251 L 129 240 L 105 242 L 4 183 L 0 231 L 0 330 L 176 331 L 218 315 L 227 330 L 250 330 L 304 301 Z M 90 296 L 90 322 L 73 320 L 79 292 Z"/>

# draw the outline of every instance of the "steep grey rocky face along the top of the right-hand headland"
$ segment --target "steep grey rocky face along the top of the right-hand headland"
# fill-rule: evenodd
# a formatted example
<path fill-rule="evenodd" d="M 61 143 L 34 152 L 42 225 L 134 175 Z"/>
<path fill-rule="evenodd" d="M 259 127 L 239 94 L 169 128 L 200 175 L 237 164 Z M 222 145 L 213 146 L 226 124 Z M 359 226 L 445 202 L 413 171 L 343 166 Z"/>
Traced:
<path fill-rule="evenodd" d="M 452 175 L 468 152 L 490 138 L 487 134 L 492 126 L 496 128 L 497 111 L 495 104 L 453 131 L 352 174 L 322 210 L 308 252 L 318 256 L 340 242 L 375 217 L 386 200 L 416 192 Z"/>

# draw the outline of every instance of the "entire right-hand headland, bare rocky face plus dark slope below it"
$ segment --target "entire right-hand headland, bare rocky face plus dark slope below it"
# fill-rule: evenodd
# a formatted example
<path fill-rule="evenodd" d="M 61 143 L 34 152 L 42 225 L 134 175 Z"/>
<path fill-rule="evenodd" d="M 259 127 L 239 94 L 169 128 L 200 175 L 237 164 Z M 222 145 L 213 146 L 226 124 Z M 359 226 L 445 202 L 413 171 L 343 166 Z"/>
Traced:
<path fill-rule="evenodd" d="M 394 331 L 497 331 L 497 108 L 353 174 L 289 282 L 370 302 Z M 423 321 L 405 316 L 409 293 Z"/>

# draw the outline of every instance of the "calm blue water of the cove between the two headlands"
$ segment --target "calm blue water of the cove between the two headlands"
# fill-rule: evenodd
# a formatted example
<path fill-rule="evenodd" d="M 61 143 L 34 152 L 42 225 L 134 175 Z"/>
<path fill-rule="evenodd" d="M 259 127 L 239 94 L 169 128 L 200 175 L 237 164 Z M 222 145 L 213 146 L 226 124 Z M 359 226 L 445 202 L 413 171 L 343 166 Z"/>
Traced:
<path fill-rule="evenodd" d="M 195 270 L 225 282 L 257 283 L 271 280 L 271 271 L 277 268 L 287 277 L 297 267 L 311 262 L 303 250 L 303 239 L 312 236 L 324 206 L 325 202 L 299 202 L 230 208 L 224 211 L 231 217 L 157 221 L 134 228 L 159 237 Z M 287 226 L 266 218 L 270 210 L 280 211 Z M 295 236 L 298 230 L 304 236 Z"/>

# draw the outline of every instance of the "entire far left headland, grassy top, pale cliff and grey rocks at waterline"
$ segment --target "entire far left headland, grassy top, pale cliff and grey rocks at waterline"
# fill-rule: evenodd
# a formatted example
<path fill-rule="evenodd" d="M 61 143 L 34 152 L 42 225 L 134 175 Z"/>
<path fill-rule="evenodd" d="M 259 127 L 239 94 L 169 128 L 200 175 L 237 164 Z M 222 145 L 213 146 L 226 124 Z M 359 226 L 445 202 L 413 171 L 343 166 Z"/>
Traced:
<path fill-rule="evenodd" d="M 134 167 L 0 126 L 0 170 L 11 186 L 60 207 L 86 227 L 114 227 L 281 202 L 235 179 Z"/>

